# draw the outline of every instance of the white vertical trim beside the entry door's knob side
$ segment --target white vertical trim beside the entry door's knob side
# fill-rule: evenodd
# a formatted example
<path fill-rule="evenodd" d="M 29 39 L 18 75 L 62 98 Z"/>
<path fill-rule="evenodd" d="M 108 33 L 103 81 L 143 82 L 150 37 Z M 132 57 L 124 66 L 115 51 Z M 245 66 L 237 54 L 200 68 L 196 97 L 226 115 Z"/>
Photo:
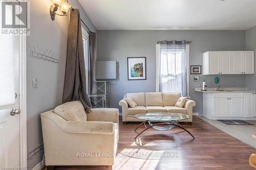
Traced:
<path fill-rule="evenodd" d="M 19 35 L 19 166 L 27 169 L 27 37 Z"/>

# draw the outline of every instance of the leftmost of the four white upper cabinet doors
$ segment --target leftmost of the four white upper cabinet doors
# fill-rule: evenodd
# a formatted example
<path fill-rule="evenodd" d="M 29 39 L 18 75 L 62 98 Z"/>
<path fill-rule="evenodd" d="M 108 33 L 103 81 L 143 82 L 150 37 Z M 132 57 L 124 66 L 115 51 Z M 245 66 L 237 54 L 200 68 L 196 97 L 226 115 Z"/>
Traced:
<path fill-rule="evenodd" d="M 209 52 L 209 74 L 220 74 L 219 52 Z"/>

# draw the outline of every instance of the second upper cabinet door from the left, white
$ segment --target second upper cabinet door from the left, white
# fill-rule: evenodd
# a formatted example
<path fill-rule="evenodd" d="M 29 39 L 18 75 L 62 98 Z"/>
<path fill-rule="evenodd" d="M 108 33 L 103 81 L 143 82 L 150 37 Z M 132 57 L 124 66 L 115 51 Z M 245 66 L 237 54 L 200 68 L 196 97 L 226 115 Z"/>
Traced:
<path fill-rule="evenodd" d="M 231 52 L 220 52 L 219 59 L 220 73 L 231 74 Z"/>

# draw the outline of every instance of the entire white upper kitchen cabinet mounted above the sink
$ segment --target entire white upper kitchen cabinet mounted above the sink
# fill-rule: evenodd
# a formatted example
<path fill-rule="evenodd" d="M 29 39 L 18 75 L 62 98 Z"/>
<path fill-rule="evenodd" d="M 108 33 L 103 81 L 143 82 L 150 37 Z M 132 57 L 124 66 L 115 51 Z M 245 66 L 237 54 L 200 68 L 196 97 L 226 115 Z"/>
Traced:
<path fill-rule="evenodd" d="M 254 74 L 254 51 L 219 51 L 203 54 L 203 75 Z"/>

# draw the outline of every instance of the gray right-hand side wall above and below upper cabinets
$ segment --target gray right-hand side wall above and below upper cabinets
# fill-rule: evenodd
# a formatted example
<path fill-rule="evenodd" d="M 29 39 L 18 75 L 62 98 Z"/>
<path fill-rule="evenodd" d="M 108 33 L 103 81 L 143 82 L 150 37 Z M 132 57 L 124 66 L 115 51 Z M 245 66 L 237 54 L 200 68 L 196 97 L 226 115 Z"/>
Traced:
<path fill-rule="evenodd" d="M 246 30 L 246 50 L 256 51 L 256 27 Z M 254 68 L 255 61 L 254 61 Z M 246 75 L 245 78 L 246 87 L 251 90 L 256 89 L 256 75 Z"/>

